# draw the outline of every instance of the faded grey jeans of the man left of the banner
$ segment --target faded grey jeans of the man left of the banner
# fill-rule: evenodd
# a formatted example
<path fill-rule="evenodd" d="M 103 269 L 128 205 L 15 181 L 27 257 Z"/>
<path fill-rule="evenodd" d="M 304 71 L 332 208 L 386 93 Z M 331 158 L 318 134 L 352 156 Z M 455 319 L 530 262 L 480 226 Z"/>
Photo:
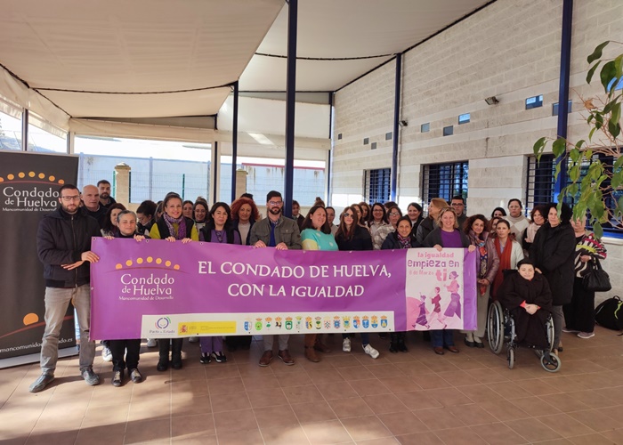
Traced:
<path fill-rule="evenodd" d="M 54 374 L 59 360 L 59 336 L 63 318 L 71 302 L 76 308 L 80 327 L 80 371 L 93 367 L 95 342 L 89 339 L 91 328 L 91 289 L 88 284 L 80 287 L 45 287 L 45 330 L 41 344 L 41 370 Z"/>

